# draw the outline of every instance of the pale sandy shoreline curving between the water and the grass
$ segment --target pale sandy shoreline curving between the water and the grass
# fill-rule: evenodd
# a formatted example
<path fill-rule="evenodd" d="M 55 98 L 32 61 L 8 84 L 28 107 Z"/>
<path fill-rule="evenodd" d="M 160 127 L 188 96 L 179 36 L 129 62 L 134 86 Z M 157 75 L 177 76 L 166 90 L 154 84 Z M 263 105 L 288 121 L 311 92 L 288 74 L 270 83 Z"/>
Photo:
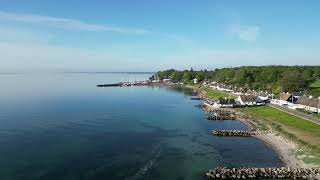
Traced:
<path fill-rule="evenodd" d="M 183 87 L 191 88 L 197 90 L 199 94 L 205 98 L 210 99 L 207 97 L 206 93 L 200 90 L 199 87 L 194 87 L 190 85 L 184 85 Z M 250 119 L 245 113 L 240 112 L 236 109 L 227 108 L 231 111 L 237 113 L 237 120 L 243 122 L 248 126 L 249 129 L 257 129 L 257 125 L 254 121 Z M 283 162 L 284 166 L 286 167 L 294 167 L 294 168 L 312 168 L 312 167 L 319 167 L 318 165 L 307 164 L 300 160 L 297 156 L 298 144 L 290 141 L 289 139 L 277 135 L 275 131 L 258 131 L 258 134 L 253 136 L 264 144 L 272 148 Z M 318 178 L 318 177 L 317 177 Z"/>

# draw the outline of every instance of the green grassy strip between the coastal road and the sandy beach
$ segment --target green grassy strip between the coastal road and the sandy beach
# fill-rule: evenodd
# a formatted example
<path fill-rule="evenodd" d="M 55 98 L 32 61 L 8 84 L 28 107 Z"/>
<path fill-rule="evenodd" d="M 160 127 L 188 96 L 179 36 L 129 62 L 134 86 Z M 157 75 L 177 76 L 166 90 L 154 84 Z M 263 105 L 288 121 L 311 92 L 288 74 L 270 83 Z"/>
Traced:
<path fill-rule="evenodd" d="M 300 145 L 297 155 L 306 163 L 320 165 L 320 125 L 287 114 L 272 107 L 239 108 L 257 122 L 258 128 L 272 128 Z"/>

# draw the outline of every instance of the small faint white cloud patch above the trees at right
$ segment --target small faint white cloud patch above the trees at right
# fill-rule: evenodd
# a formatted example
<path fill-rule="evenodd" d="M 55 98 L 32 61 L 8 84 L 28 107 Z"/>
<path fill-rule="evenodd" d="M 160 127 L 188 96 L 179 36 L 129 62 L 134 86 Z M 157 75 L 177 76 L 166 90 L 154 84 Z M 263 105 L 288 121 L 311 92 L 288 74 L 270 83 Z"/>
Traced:
<path fill-rule="evenodd" d="M 241 40 L 247 42 L 256 42 L 260 34 L 260 28 L 258 26 L 233 24 L 231 25 L 231 33 Z"/>

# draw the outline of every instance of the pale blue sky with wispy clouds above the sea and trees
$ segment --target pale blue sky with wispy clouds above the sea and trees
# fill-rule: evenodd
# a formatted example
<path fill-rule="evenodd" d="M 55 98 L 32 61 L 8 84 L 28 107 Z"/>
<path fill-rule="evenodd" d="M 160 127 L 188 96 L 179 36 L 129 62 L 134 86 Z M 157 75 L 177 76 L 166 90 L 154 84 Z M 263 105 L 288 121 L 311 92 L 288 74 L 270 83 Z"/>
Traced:
<path fill-rule="evenodd" d="M 319 0 L 0 0 L 0 72 L 320 65 Z"/>

